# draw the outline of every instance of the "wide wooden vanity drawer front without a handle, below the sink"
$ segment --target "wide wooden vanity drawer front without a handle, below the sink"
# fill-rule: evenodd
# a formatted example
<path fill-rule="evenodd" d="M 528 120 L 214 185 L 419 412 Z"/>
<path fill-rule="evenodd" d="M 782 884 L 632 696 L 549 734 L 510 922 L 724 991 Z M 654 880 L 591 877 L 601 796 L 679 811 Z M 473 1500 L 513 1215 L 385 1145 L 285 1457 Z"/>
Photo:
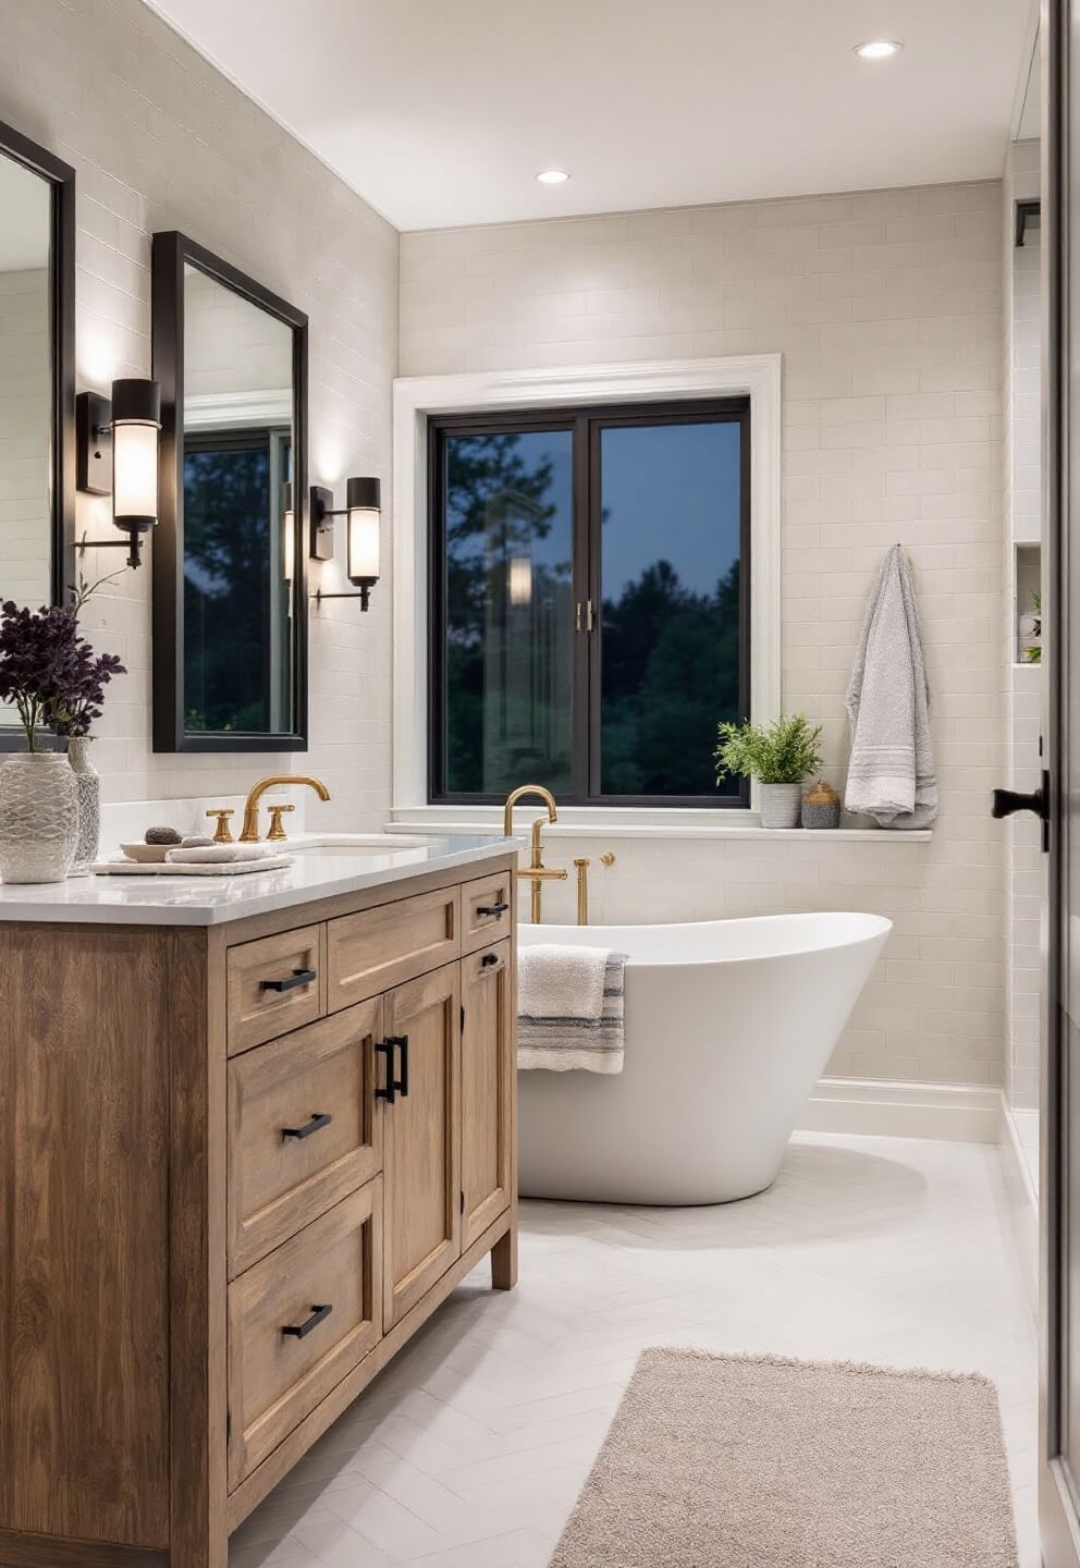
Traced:
<path fill-rule="evenodd" d="M 328 1007 L 334 1013 L 390 991 L 461 955 L 461 891 L 440 887 L 326 927 Z"/>

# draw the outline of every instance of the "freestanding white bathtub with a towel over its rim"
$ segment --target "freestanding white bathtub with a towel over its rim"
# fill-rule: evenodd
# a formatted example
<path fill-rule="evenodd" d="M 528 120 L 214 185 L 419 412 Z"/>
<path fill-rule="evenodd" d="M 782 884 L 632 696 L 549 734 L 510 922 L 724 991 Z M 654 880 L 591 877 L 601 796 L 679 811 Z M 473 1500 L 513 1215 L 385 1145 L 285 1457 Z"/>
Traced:
<path fill-rule="evenodd" d="M 890 930 L 876 914 L 522 925 L 522 946 L 629 956 L 622 1073 L 517 1074 L 522 1195 L 693 1204 L 768 1187 Z"/>

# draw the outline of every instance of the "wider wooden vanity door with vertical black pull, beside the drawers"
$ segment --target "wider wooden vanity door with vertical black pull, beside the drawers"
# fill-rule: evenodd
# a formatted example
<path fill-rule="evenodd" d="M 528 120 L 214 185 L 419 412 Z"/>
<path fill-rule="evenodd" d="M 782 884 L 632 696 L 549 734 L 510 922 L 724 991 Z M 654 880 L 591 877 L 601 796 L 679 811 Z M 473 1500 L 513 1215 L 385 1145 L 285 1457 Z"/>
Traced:
<path fill-rule="evenodd" d="M 400 1085 L 382 1121 L 384 1331 L 461 1254 L 459 972 L 461 964 L 445 964 L 384 999 Z"/>

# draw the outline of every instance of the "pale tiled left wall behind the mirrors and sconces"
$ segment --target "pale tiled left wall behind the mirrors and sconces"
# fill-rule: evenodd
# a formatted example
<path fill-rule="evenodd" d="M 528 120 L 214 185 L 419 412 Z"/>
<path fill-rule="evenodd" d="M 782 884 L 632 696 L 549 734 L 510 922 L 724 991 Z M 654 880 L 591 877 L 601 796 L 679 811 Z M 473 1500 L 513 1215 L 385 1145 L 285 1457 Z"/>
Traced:
<path fill-rule="evenodd" d="M 182 229 L 310 317 L 310 477 L 378 474 L 389 510 L 398 235 L 141 0 L 34 0 L 5 9 L 0 119 L 77 171 L 78 386 L 150 373 L 150 235 Z M 108 536 L 108 503 L 77 527 Z M 88 577 L 116 550 L 89 552 Z M 243 793 L 266 771 L 320 773 L 320 826 L 378 826 L 390 781 L 390 554 L 371 610 L 310 619 L 310 750 L 237 756 L 150 751 L 150 574 L 122 572 L 88 605 L 129 674 L 108 693 L 96 762 L 108 800 Z M 343 549 L 324 572 L 343 580 Z M 0 583 L 0 586 L 3 586 Z M 312 582 L 312 588 L 315 582 Z M 312 814 L 313 818 L 313 814 Z M 312 825 L 315 822 L 312 820 Z"/>

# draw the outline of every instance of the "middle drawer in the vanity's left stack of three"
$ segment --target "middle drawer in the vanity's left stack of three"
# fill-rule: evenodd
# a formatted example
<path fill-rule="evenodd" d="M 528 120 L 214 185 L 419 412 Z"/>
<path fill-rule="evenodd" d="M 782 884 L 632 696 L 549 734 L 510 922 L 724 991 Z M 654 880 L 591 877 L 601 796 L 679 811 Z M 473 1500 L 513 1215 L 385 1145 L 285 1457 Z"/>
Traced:
<path fill-rule="evenodd" d="M 229 1063 L 229 1278 L 381 1171 L 381 1038 L 376 999 Z"/>

